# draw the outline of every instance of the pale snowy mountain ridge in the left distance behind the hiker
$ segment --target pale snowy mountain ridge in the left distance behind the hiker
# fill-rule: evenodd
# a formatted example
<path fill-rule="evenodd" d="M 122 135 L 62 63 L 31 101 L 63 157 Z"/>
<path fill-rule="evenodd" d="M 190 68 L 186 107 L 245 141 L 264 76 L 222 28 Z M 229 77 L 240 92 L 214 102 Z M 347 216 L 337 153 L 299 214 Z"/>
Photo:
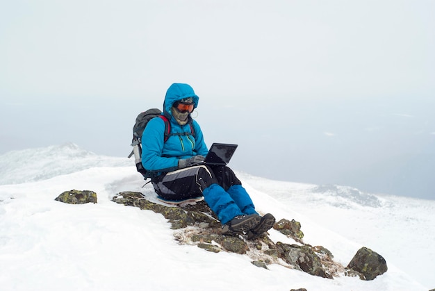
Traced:
<path fill-rule="evenodd" d="M 42 181 L 91 167 L 125 167 L 128 158 L 99 156 L 73 143 L 8 151 L 0 156 L 0 185 Z"/>

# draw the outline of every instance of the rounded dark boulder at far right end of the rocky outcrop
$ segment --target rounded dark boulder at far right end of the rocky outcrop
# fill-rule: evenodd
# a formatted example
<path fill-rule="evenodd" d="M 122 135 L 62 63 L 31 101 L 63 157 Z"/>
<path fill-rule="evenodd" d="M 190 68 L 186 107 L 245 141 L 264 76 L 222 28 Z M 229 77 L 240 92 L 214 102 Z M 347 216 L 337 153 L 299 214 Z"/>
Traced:
<path fill-rule="evenodd" d="M 346 268 L 363 274 L 363 279 L 367 281 L 384 274 L 388 269 L 385 259 L 379 253 L 366 247 L 362 247 L 356 252 Z"/>

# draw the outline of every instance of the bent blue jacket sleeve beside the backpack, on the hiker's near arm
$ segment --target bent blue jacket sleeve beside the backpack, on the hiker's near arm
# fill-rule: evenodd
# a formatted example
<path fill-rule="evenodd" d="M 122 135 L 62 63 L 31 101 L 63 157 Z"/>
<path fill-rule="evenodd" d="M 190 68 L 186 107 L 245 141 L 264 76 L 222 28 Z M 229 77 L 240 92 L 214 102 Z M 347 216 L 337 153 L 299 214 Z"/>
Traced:
<path fill-rule="evenodd" d="M 171 172 L 178 169 L 178 158 L 163 157 L 165 122 L 151 119 L 142 134 L 142 165 L 147 171 Z"/>

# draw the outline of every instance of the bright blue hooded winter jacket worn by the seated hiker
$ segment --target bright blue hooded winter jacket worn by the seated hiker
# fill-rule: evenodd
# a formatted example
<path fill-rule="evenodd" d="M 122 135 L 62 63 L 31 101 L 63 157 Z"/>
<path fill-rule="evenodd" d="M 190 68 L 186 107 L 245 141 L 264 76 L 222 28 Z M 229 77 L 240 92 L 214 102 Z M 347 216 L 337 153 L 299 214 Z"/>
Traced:
<path fill-rule="evenodd" d="M 190 133 L 188 135 L 170 135 L 164 142 L 165 122 L 161 118 L 151 119 L 142 134 L 142 165 L 151 172 L 171 172 L 178 169 L 178 161 L 181 158 L 190 158 L 196 155 L 206 156 L 208 149 L 204 142 L 199 124 L 188 116 L 192 121 L 195 136 L 191 134 L 189 122 L 179 125 L 172 116 L 172 105 L 181 99 L 192 97 L 197 108 L 199 97 L 188 84 L 174 83 L 166 92 L 163 102 L 163 115 L 165 115 L 173 133 Z"/>

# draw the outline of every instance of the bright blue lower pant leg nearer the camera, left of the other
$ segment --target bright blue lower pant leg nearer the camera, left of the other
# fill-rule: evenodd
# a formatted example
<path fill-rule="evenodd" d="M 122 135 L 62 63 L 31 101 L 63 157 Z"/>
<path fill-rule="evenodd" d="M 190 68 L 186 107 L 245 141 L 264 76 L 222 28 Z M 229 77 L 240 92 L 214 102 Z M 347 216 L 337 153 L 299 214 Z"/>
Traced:
<path fill-rule="evenodd" d="M 222 224 L 226 224 L 238 215 L 243 215 L 236 202 L 220 185 L 212 184 L 202 194 Z"/>

